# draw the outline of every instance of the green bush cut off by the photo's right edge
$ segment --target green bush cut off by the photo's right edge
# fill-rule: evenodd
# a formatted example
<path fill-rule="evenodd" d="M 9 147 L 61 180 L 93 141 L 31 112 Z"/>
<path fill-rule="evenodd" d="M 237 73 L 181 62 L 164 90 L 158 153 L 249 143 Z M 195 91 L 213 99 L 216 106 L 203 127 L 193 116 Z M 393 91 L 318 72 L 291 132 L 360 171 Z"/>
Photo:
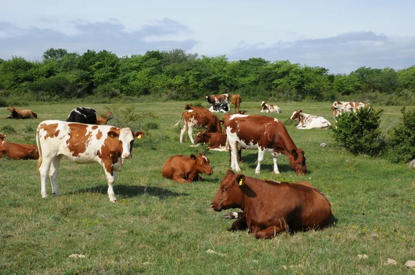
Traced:
<path fill-rule="evenodd" d="M 401 122 L 394 127 L 388 147 L 393 162 L 407 162 L 415 158 L 415 110 L 402 108 Z"/>

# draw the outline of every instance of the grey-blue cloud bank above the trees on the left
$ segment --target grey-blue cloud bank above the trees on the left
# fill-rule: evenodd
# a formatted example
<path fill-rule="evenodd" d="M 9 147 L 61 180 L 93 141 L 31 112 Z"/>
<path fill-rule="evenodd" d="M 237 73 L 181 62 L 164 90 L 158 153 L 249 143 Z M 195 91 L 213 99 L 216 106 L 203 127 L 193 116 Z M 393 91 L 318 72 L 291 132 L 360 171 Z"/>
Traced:
<path fill-rule="evenodd" d="M 69 52 L 110 50 L 117 55 L 145 53 L 147 50 L 190 50 L 197 43 L 194 39 L 154 39 L 163 35 L 190 32 L 187 26 L 172 19 L 156 21 L 153 25 L 127 31 L 116 20 L 95 23 L 72 21 L 74 35 L 66 35 L 51 28 L 18 28 L 13 23 L 0 21 L 0 58 L 13 55 L 27 59 L 40 59 L 48 48 L 66 48 Z M 147 41 L 146 37 L 153 37 Z"/>

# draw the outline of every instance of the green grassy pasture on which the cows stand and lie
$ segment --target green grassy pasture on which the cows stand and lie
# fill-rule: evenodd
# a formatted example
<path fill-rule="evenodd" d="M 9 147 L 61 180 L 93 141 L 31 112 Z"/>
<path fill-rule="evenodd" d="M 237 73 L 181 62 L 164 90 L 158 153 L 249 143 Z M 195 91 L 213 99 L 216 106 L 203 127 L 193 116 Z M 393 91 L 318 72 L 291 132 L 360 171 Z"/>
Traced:
<path fill-rule="evenodd" d="M 0 160 L 1 274 L 414 274 L 405 267 L 407 260 L 415 260 L 415 171 L 407 164 L 351 155 L 335 146 L 331 130 L 298 130 L 286 124 L 297 147 L 305 151 L 309 173 L 297 176 L 282 155 L 281 174 L 275 175 L 268 153 L 261 174 L 255 175 L 257 151 L 242 152 L 241 173 L 288 182 L 308 180 L 329 199 L 337 222 L 322 231 L 257 240 L 246 231 L 230 231 L 231 222 L 223 218 L 228 211 L 210 209 L 230 168 L 229 155 L 203 145 L 190 147 L 187 133 L 183 144 L 178 142 L 179 127 L 172 126 L 185 102 L 132 105 L 136 112 L 153 111 L 157 117 L 145 122 L 160 127 L 146 130 L 134 143 L 133 158 L 124 162 L 114 184 L 118 204 L 109 202 L 98 164 L 62 160 L 57 180 L 62 196 L 52 196 L 48 184 L 49 197 L 42 199 L 36 160 Z M 37 120 L 6 120 L 9 113 L 1 108 L 0 133 L 11 126 L 16 133 L 9 133 L 9 142 L 35 144 L 39 122 L 65 120 L 75 106 L 89 106 L 98 113 L 111 107 L 19 106 L 37 112 Z M 331 102 L 278 106 L 282 113 L 266 115 L 286 122 L 295 109 L 302 109 L 334 123 Z M 387 129 L 398 122 L 401 107 L 382 108 L 382 129 Z M 259 114 L 259 109 L 259 102 L 241 104 L 248 114 Z M 322 142 L 328 146 L 321 147 Z M 210 158 L 212 176 L 192 184 L 161 176 L 170 156 L 200 152 Z M 359 259 L 358 254 L 369 258 Z M 387 258 L 398 264 L 384 265 Z"/>

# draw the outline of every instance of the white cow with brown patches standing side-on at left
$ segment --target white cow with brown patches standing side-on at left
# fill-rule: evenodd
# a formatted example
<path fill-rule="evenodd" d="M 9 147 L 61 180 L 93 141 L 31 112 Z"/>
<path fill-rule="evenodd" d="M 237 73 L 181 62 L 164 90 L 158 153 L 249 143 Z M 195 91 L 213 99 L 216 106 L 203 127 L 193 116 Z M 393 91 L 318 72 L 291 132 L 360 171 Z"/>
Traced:
<path fill-rule="evenodd" d="M 108 196 L 117 202 L 113 191 L 116 171 L 124 160 L 131 158 L 134 138 L 142 138 L 141 131 L 109 125 L 91 125 L 76 122 L 46 120 L 37 126 L 36 142 L 39 150 L 37 171 L 40 173 L 42 198 L 46 198 L 46 180 L 50 177 L 52 191 L 57 189 L 57 171 L 63 156 L 76 163 L 97 162 L 104 168 L 108 182 Z"/>

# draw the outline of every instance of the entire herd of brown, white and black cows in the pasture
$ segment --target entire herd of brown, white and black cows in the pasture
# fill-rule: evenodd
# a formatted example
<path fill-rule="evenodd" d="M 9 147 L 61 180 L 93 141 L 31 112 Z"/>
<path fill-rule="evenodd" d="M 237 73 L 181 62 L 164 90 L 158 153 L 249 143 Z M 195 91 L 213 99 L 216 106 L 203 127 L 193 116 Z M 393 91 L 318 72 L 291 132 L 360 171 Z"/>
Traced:
<path fill-rule="evenodd" d="M 203 128 L 205 131 L 196 135 L 196 142 L 209 143 L 208 148 L 212 150 L 230 151 L 230 167 L 234 171 L 241 171 L 238 164 L 242 161 L 241 149 L 257 149 L 255 173 L 260 173 L 266 151 L 273 155 L 275 173 L 279 173 L 277 160 L 280 154 L 287 156 L 295 173 L 307 173 L 304 151 L 295 146 L 282 122 L 264 115 L 246 115 L 239 110 L 240 95 L 232 95 L 234 113 L 228 113 L 228 99 L 228 94 L 206 96 L 210 108 L 186 104 L 181 119 L 174 125 L 177 126 L 184 117 L 180 142 L 183 142 L 183 134 L 188 129 L 190 141 L 194 143 L 193 127 Z M 217 109 L 215 106 L 227 113 L 222 120 L 212 113 Z M 223 106 L 228 111 L 224 111 Z M 336 101 L 332 111 L 336 116 L 363 107 L 367 105 Z M 30 110 L 13 107 L 8 110 L 11 114 L 6 118 L 37 118 L 37 114 Z M 261 112 L 280 113 L 281 109 L 261 102 Z M 0 158 L 7 154 L 12 159 L 37 159 L 42 198 L 48 196 L 48 176 L 53 193 L 59 195 L 57 173 L 63 156 L 76 163 L 97 162 L 107 177 L 109 200 L 117 202 L 113 191 L 116 171 L 120 171 L 124 160 L 131 158 L 134 140 L 142 138 L 145 133 L 106 125 L 111 118 L 111 112 L 99 116 L 91 108 L 75 108 L 65 122 L 41 122 L 36 132 L 37 145 L 6 142 L 4 138 L 7 134 L 0 133 Z M 291 120 L 298 120 L 298 129 L 328 129 L 331 125 L 324 117 L 307 115 L 302 111 L 294 111 Z M 232 170 L 227 171 L 211 204 L 214 211 L 231 208 L 243 211 L 229 215 L 237 218 L 232 223 L 232 228 L 248 229 L 257 238 L 272 238 L 283 231 L 321 229 L 329 224 L 332 217 L 330 202 L 311 183 L 259 180 Z M 197 156 L 174 155 L 165 162 L 161 172 L 165 178 L 183 183 L 201 180 L 201 173 L 211 175 L 213 170 L 208 157 L 201 153 Z"/>

